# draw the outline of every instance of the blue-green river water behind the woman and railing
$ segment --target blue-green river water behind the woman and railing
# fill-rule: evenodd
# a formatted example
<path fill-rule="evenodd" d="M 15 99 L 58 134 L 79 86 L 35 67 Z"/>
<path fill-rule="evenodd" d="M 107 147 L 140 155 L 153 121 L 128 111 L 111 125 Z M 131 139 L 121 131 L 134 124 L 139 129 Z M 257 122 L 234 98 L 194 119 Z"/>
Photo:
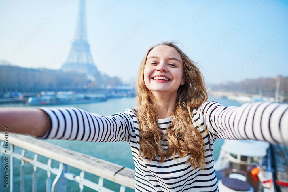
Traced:
<path fill-rule="evenodd" d="M 235 100 L 228 100 L 228 99 L 210 98 L 209 101 L 217 101 L 224 106 L 240 106 L 243 104 Z M 0 105 L 0 107 L 5 107 L 5 104 Z M 13 105 L 13 107 L 31 107 L 31 106 L 15 104 Z M 102 116 L 108 116 L 114 113 L 124 112 L 125 109 L 127 108 L 137 107 L 137 100 L 136 98 L 118 98 L 118 99 L 109 99 L 106 102 L 99 102 L 99 103 L 58 105 L 58 106 L 54 105 L 54 106 L 47 106 L 47 107 L 76 107 L 76 108 L 80 108 L 85 111 L 88 111 L 90 113 L 96 113 Z M 37 106 L 33 106 L 33 108 L 37 108 Z M 53 139 L 48 139 L 45 141 L 52 143 L 54 145 L 58 145 L 58 146 L 73 150 L 73 151 L 77 151 L 77 152 L 84 153 L 86 155 L 97 157 L 105 161 L 110 161 L 115 164 L 119 164 L 121 166 L 135 169 L 130 145 L 126 142 L 91 143 L 91 142 L 83 142 L 83 141 L 66 141 L 66 140 L 53 140 Z M 219 156 L 219 149 L 222 143 L 223 143 L 223 140 L 221 139 L 216 140 L 216 142 L 214 143 L 214 148 L 213 148 L 214 160 L 216 160 Z M 14 150 L 15 152 L 21 154 L 22 148 L 15 146 Z M 33 159 L 34 154 L 35 153 L 32 153 L 31 151 L 26 151 L 25 153 L 25 155 L 31 159 Z M 45 164 L 47 164 L 47 160 L 48 158 L 46 157 L 43 157 L 43 156 L 38 157 L 38 161 L 41 161 Z M 21 166 L 20 160 L 14 159 L 14 177 L 13 177 L 14 190 L 13 191 L 17 191 L 17 192 L 20 191 L 20 166 Z M 51 166 L 52 168 L 58 167 L 59 163 L 56 161 L 52 161 Z M 41 170 L 40 168 L 37 168 L 37 170 L 38 170 L 37 191 L 46 191 L 47 172 L 44 170 Z M 80 170 L 77 170 L 71 166 L 68 166 L 68 171 L 75 173 L 77 175 L 80 174 Z M 33 173 L 33 166 L 28 163 L 25 163 L 25 191 L 32 191 L 32 173 Z M 52 177 L 52 182 L 53 182 L 56 176 L 52 174 L 51 177 Z M 98 183 L 97 176 L 93 176 L 89 173 L 85 173 L 84 178 L 87 178 L 87 177 L 89 177 L 89 179 L 92 180 L 93 182 Z M 103 185 L 113 191 L 119 191 L 120 189 L 120 185 L 114 184 L 107 180 L 104 180 Z M 4 191 L 8 192 L 7 189 L 5 189 Z M 75 182 L 68 180 L 67 191 L 69 192 L 80 191 L 79 185 L 77 185 L 77 183 Z M 84 191 L 95 191 L 95 190 L 92 190 L 84 186 Z M 134 191 L 134 190 L 126 187 L 125 191 Z"/>

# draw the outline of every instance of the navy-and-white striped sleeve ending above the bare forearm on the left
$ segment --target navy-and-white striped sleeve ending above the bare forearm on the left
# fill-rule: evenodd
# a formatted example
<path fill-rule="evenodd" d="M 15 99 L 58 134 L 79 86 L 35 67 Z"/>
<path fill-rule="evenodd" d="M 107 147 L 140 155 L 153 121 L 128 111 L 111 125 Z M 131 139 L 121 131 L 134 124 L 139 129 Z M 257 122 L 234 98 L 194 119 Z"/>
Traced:
<path fill-rule="evenodd" d="M 63 139 L 88 142 L 130 142 L 134 122 L 132 115 L 115 113 L 100 116 L 77 108 L 46 108 L 51 127 L 40 139 Z"/>

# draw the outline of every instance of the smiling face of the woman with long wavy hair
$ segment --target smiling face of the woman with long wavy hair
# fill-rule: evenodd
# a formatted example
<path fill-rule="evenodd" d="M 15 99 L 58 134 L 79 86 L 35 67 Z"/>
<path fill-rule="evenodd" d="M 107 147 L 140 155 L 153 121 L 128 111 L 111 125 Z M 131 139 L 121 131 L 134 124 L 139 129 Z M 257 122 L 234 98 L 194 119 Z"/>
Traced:
<path fill-rule="evenodd" d="M 154 47 L 147 56 L 144 82 L 154 95 L 177 95 L 179 86 L 185 83 L 183 61 L 177 50 L 167 45 Z"/>

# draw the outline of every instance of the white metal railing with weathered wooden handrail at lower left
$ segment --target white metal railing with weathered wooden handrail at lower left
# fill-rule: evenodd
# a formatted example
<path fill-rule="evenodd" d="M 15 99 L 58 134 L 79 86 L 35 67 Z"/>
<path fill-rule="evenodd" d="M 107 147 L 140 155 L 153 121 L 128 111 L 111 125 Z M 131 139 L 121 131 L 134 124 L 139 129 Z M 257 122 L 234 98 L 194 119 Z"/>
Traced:
<path fill-rule="evenodd" d="M 91 157 L 76 151 L 65 149 L 57 145 L 50 144 L 41 140 L 34 139 L 30 136 L 9 133 L 8 143 L 5 143 L 5 134 L 0 132 L 0 139 L 3 140 L 0 145 L 0 191 L 5 188 L 5 159 L 9 159 L 9 189 L 13 191 L 13 159 L 21 160 L 20 168 L 20 191 L 26 191 L 24 185 L 25 166 L 24 162 L 32 164 L 34 172 L 32 175 L 32 191 L 37 191 L 37 168 L 47 171 L 46 191 L 47 192 L 66 192 L 67 181 L 72 180 L 79 183 L 80 192 L 83 187 L 87 186 L 96 191 L 113 192 L 111 189 L 103 187 L 103 180 L 107 179 L 121 185 L 120 192 L 125 191 L 125 187 L 135 189 L 135 170 L 123 167 L 96 157 Z M 10 150 L 7 150 L 9 145 Z M 23 148 L 22 153 L 14 151 L 14 145 Z M 6 148 L 6 149 L 5 149 Z M 7 151 L 6 151 L 7 150 Z M 34 159 L 25 156 L 26 150 L 36 153 Z M 37 161 L 38 155 L 48 157 L 48 163 L 44 164 Z M 59 168 L 51 168 L 51 161 L 59 161 Z M 80 175 L 67 172 L 67 166 L 75 167 L 81 170 Z M 99 176 L 98 183 L 84 178 L 85 172 Z M 51 174 L 56 178 L 51 181 Z M 52 184 L 51 184 L 52 182 Z M 17 190 L 18 191 L 18 190 Z"/>

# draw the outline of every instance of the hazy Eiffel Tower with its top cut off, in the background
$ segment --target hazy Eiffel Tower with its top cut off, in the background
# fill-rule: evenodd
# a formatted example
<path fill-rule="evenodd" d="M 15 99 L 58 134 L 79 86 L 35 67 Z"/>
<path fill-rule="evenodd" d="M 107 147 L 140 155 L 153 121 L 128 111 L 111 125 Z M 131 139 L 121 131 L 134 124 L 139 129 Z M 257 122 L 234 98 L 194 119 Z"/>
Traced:
<path fill-rule="evenodd" d="M 79 18 L 74 40 L 69 56 L 62 65 L 62 71 L 88 74 L 91 70 L 97 70 L 87 41 L 85 0 L 80 0 Z"/>

